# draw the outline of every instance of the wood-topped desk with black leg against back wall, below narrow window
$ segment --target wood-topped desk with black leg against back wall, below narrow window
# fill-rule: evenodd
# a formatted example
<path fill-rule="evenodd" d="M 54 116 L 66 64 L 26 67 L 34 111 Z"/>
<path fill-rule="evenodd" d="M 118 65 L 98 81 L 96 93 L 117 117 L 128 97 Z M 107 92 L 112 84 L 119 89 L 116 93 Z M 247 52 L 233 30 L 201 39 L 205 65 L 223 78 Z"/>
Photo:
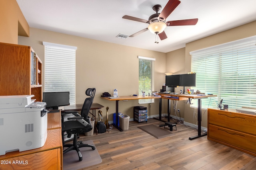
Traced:
<path fill-rule="evenodd" d="M 139 100 L 139 99 L 157 99 L 160 97 L 156 96 L 119 96 L 114 99 L 110 98 L 104 98 L 101 97 L 102 99 L 109 100 L 109 101 L 116 101 L 116 123 L 118 123 L 118 102 L 119 100 Z M 123 131 L 120 127 L 118 127 L 118 124 L 112 124 L 114 127 L 116 127 L 119 131 Z"/>

